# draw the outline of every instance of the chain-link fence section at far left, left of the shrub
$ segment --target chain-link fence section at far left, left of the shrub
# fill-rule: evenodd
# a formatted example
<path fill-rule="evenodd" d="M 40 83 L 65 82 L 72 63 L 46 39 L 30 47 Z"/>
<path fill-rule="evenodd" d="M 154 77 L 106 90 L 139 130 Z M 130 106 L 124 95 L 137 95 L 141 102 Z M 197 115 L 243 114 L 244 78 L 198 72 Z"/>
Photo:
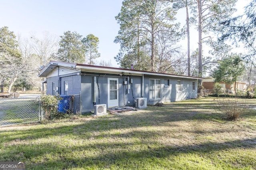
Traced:
<path fill-rule="evenodd" d="M 0 99 L 0 126 L 40 121 L 40 99 Z"/>

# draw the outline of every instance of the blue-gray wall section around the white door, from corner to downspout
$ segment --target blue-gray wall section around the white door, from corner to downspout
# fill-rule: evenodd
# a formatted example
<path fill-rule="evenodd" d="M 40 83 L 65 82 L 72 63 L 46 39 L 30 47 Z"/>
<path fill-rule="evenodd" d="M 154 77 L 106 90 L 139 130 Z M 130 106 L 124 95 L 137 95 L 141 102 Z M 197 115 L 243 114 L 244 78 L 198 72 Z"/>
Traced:
<path fill-rule="evenodd" d="M 134 98 L 140 98 L 141 94 L 141 77 L 132 77 L 133 83 L 130 81 L 130 90 L 128 93 L 127 86 L 124 85 L 124 81 L 128 80 L 128 77 L 124 76 L 98 76 L 96 77 L 96 84 L 94 85 L 93 75 L 82 75 L 81 79 L 81 98 L 82 98 L 82 112 L 92 111 L 95 104 L 107 104 L 108 107 L 108 78 L 114 77 L 118 78 L 118 96 L 119 96 L 119 106 L 135 105 Z M 132 95 L 134 94 L 134 96 Z M 95 101 L 94 101 L 94 95 Z M 130 104 L 128 104 L 130 102 Z"/>

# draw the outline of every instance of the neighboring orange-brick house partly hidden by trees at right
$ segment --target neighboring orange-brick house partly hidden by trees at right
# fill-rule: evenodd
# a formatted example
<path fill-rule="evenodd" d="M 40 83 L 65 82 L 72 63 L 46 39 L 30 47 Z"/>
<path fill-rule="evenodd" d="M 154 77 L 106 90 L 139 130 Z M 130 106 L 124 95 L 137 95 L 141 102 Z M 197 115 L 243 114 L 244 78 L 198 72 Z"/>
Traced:
<path fill-rule="evenodd" d="M 204 80 L 202 80 L 202 86 L 204 89 L 209 89 L 210 92 L 213 91 L 214 88 L 214 78 L 212 77 L 206 77 Z M 235 83 L 234 84 L 227 84 L 225 82 L 220 82 L 220 85 L 222 86 L 223 92 L 231 92 L 235 93 Z M 245 92 L 246 90 L 246 82 L 236 82 L 236 90 L 241 90 Z"/>

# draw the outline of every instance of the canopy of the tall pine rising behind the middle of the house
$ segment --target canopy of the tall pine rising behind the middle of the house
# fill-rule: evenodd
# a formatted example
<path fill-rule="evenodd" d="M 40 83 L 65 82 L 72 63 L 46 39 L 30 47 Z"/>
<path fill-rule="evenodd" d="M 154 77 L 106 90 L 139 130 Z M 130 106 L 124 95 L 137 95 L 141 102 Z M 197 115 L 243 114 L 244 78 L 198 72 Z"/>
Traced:
<path fill-rule="evenodd" d="M 120 43 L 116 61 L 134 64 L 134 68 L 159 71 L 156 69 L 158 52 L 162 50 L 159 42 L 169 41 L 172 43 L 171 49 L 175 49 L 173 42 L 179 39 L 175 14 L 168 0 L 124 0 L 121 12 L 116 16 L 120 24 L 114 41 Z M 171 53 L 172 50 L 166 51 Z M 170 54 L 165 56 L 170 57 Z M 150 63 L 150 66 L 145 63 Z"/>

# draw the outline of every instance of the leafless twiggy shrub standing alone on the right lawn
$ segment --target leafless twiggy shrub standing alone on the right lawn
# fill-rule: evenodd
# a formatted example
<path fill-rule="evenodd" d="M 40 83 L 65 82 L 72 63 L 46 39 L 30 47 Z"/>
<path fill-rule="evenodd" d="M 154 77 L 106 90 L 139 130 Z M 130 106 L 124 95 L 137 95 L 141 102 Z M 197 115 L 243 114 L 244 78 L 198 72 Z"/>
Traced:
<path fill-rule="evenodd" d="M 244 98 L 219 98 L 216 108 L 224 115 L 224 118 L 236 120 L 248 106 Z"/>

